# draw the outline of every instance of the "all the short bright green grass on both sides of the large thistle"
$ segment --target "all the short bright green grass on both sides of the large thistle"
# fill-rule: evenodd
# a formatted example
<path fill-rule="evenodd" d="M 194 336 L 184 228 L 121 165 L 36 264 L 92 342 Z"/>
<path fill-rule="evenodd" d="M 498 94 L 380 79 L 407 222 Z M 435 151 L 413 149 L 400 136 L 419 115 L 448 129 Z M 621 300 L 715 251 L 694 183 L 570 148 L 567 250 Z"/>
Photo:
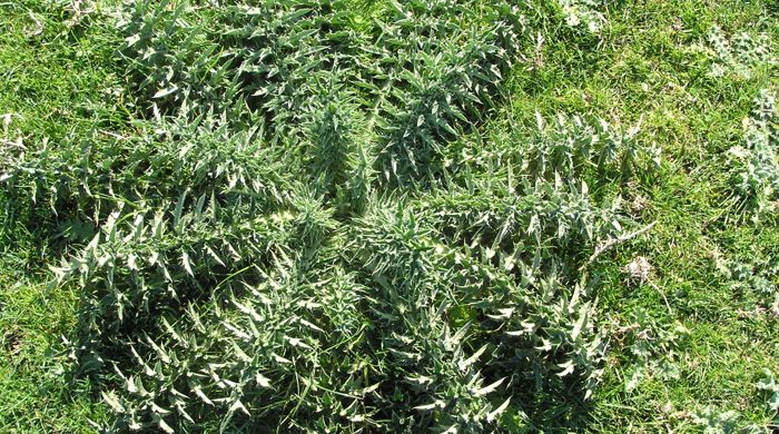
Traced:
<path fill-rule="evenodd" d="M 513 71 L 505 106 L 484 127 L 489 132 L 510 117 L 530 126 L 536 111 L 592 114 L 625 126 L 641 121 L 639 140 L 662 149 L 660 172 L 629 187 L 647 199 L 637 218 L 657 226 L 595 264 L 599 325 L 609 347 L 583 430 L 699 432 L 696 415 L 709 406 L 734 411 L 738 427 L 779 423 L 755 387 L 765 368 L 779 375 L 779 318 L 741 315 L 753 308 L 755 296 L 733 290 L 714 262 L 716 255 L 738 262 L 779 255 L 776 217 L 737 219 L 723 169 L 755 97 L 779 86 L 779 76 L 763 67 L 749 78 L 711 78 L 692 51 L 718 24 L 728 34 L 768 33 L 779 57 L 779 11 L 770 8 L 736 0 L 620 1 L 608 8 L 602 34 L 576 36 L 580 43 L 568 39 L 574 30 L 548 29 L 538 65 Z M 45 23 L 42 34 L 29 36 L 29 11 Z M 57 146 L 96 126 L 128 128 L 124 91 L 114 92 L 121 89 L 116 36 L 97 22 L 69 29 L 66 20 L 43 2 L 0 2 L 0 114 L 16 115 L 11 127 L 31 148 L 43 140 Z M 17 227 L 0 233 L 0 243 L 8 246 L 0 259 L 0 431 L 88 432 L 88 421 L 106 421 L 108 411 L 93 385 L 61 374 L 68 365 L 62 336 L 77 325 L 79 294 L 70 286 L 50 289 L 46 266 L 57 258 L 37 234 Z M 653 266 L 650 283 L 628 283 L 623 269 L 637 256 Z M 648 372 L 627 391 L 641 362 L 633 353 L 640 338 L 620 329 L 639 310 L 655 334 L 687 333 L 650 343 L 651 358 L 673 363 L 677 374 Z"/>

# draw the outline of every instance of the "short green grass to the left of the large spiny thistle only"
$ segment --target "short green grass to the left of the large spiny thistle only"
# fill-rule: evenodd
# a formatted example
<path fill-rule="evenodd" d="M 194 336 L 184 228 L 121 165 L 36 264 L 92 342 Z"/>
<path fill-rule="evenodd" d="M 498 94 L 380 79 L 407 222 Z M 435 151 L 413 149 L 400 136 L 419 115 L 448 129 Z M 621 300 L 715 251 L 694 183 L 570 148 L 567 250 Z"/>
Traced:
<path fill-rule="evenodd" d="M 40 21 L 36 32 L 32 13 Z M 115 40 L 99 26 L 66 26 L 61 7 L 0 2 L 0 111 L 9 138 L 28 149 L 122 122 Z M 19 132 L 17 132 L 19 131 Z M 3 193 L 0 193 L 2 196 Z M 30 217 L 34 218 L 34 217 Z M 88 384 L 66 381 L 62 338 L 76 325 L 78 294 L 48 288 L 48 245 L 21 225 L 0 230 L 0 431 L 80 433 L 106 411 Z"/>

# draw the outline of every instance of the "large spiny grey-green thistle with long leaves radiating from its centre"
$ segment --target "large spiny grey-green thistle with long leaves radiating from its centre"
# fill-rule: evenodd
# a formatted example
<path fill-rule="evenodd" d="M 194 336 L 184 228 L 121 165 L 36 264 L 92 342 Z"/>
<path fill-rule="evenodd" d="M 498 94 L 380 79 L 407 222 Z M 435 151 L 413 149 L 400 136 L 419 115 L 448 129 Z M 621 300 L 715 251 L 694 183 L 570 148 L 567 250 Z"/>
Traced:
<path fill-rule="evenodd" d="M 100 385 L 103 428 L 573 417 L 605 348 L 588 257 L 635 225 L 598 186 L 659 156 L 638 128 L 578 116 L 482 134 L 524 12 L 393 1 L 366 24 L 339 1 L 127 3 L 145 117 L 3 175 L 7 209 L 45 216 L 57 284 L 81 292 L 71 374 Z"/>

